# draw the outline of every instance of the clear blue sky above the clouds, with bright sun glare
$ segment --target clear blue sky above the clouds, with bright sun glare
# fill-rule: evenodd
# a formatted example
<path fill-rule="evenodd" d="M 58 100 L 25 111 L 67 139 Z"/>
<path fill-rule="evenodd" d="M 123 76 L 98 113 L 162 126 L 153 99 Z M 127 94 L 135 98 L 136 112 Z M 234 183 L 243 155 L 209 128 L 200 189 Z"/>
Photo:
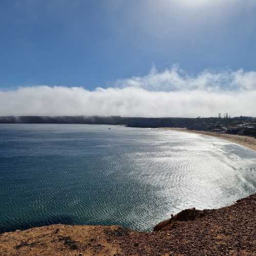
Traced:
<path fill-rule="evenodd" d="M 0 87 L 93 90 L 153 65 L 178 64 L 189 74 L 255 70 L 253 2 L 2 0 Z"/>

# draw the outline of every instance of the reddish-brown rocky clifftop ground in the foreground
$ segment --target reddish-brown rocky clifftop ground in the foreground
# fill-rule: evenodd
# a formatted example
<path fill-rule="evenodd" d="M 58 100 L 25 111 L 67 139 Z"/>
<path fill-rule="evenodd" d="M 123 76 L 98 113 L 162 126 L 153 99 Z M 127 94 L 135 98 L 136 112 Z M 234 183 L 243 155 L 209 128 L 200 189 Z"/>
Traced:
<path fill-rule="evenodd" d="M 186 209 L 153 232 L 52 225 L 0 235 L 0 255 L 256 255 L 256 194 L 212 210 Z"/>

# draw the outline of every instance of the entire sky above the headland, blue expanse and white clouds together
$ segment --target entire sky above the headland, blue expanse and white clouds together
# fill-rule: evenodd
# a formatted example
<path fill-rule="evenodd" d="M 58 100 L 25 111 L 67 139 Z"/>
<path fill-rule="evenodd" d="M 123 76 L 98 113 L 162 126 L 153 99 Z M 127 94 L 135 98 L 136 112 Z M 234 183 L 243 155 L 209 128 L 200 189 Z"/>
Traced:
<path fill-rule="evenodd" d="M 0 115 L 256 116 L 255 0 L 1 0 Z"/>

